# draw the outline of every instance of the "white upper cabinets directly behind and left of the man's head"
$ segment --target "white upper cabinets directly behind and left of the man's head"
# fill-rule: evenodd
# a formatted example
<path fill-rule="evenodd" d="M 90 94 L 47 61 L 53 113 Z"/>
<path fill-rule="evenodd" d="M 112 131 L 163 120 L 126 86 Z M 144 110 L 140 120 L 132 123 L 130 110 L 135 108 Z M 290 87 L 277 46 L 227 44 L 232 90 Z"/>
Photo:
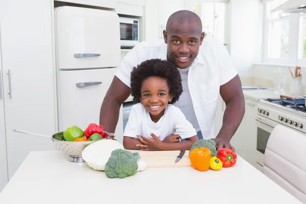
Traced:
<path fill-rule="evenodd" d="M 145 40 L 163 39 L 169 16 L 184 9 L 184 0 L 145 1 Z"/>

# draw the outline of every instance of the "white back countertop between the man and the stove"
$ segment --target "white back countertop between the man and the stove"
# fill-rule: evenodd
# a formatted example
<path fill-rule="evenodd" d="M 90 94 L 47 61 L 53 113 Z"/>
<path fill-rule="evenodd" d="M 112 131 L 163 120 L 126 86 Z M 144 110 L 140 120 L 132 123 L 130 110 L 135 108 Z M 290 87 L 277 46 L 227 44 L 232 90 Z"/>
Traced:
<path fill-rule="evenodd" d="M 254 89 L 254 90 L 243 90 L 243 94 L 246 98 L 252 100 L 261 100 L 267 98 L 280 98 L 278 94 L 274 93 L 273 89 Z"/>

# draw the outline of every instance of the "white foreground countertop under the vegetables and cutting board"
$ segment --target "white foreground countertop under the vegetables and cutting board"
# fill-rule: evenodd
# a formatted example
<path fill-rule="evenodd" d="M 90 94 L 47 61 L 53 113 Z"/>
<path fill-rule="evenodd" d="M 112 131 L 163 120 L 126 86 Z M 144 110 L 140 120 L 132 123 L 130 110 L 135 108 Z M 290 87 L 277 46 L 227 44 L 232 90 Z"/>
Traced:
<path fill-rule="evenodd" d="M 108 179 L 61 151 L 34 151 L 0 194 L 0 203 L 301 203 L 238 156 L 234 167 L 200 172 L 155 168 Z"/>

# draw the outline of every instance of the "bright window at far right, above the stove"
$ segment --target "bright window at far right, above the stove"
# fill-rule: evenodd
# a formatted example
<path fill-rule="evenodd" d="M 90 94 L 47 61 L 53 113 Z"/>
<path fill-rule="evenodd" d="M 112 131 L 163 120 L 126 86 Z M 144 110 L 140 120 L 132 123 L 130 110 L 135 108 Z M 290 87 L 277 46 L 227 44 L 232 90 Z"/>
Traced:
<path fill-rule="evenodd" d="M 306 65 L 306 15 L 271 12 L 288 0 L 265 4 L 264 63 Z"/>

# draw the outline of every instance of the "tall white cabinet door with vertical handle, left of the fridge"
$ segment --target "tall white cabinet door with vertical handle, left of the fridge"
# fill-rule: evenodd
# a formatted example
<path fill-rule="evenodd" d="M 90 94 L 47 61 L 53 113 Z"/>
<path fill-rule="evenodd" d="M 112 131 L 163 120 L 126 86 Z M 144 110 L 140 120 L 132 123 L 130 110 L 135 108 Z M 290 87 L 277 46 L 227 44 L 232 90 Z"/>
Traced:
<path fill-rule="evenodd" d="M 52 140 L 13 131 L 57 131 L 52 10 L 50 0 L 0 1 L 9 179 L 30 151 L 56 149 Z"/>

